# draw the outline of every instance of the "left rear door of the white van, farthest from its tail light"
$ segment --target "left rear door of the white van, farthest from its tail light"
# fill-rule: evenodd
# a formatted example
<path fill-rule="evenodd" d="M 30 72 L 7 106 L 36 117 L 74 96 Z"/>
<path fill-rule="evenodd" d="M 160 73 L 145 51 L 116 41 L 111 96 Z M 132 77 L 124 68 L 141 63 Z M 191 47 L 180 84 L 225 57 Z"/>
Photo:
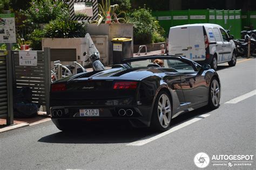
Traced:
<path fill-rule="evenodd" d="M 190 58 L 189 28 L 187 26 L 174 27 L 169 32 L 169 54 Z"/>

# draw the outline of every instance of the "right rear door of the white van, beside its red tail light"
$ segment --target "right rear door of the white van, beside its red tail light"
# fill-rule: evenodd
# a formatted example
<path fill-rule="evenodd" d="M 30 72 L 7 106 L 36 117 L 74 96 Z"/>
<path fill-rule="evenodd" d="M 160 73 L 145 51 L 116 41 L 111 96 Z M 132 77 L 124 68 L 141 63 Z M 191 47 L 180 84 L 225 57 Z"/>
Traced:
<path fill-rule="evenodd" d="M 190 59 L 194 61 L 205 60 L 205 38 L 203 26 L 190 26 Z"/>

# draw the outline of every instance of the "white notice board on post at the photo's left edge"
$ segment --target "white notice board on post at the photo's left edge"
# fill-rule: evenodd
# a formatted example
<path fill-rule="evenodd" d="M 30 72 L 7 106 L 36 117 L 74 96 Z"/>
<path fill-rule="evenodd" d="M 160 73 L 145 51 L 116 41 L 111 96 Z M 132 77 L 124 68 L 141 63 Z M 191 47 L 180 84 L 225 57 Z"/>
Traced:
<path fill-rule="evenodd" d="M 0 14 L 0 43 L 16 43 L 14 13 Z"/>

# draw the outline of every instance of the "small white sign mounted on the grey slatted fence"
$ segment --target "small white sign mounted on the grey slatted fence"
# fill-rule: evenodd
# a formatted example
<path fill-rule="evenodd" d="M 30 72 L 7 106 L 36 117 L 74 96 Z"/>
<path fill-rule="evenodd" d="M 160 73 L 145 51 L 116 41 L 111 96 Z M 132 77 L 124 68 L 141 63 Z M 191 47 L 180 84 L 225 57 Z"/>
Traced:
<path fill-rule="evenodd" d="M 37 66 L 37 51 L 19 51 L 20 66 Z"/>

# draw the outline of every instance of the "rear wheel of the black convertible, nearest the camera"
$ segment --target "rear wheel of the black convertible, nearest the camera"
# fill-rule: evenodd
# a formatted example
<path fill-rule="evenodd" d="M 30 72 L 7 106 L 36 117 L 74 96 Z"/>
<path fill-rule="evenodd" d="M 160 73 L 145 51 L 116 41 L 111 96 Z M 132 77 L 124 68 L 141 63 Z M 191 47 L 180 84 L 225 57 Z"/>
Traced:
<path fill-rule="evenodd" d="M 172 105 L 169 94 L 160 91 L 154 103 L 151 117 L 151 128 L 157 131 L 166 131 L 169 129 L 172 119 Z"/>

